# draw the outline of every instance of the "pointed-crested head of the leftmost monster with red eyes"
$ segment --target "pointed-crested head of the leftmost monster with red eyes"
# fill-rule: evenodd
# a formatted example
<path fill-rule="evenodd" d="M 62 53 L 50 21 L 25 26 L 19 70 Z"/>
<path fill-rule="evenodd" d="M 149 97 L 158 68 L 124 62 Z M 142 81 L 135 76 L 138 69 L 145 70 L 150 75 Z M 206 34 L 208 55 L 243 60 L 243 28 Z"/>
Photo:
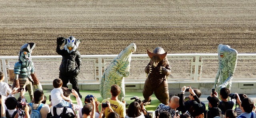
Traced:
<path fill-rule="evenodd" d="M 22 62 L 23 66 L 29 66 L 31 63 L 31 53 L 35 48 L 35 43 L 26 43 L 20 48 L 19 61 Z"/>

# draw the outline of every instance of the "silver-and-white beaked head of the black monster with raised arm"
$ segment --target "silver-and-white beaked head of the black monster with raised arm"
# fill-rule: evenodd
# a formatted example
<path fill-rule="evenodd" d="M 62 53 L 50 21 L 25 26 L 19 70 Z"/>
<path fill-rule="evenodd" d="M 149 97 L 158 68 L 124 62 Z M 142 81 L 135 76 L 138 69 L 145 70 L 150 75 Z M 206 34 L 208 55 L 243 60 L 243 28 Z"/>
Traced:
<path fill-rule="evenodd" d="M 66 38 L 64 49 L 67 50 L 68 53 L 71 53 L 76 51 L 79 44 L 80 40 L 77 40 L 74 36 L 70 36 L 69 38 Z"/>

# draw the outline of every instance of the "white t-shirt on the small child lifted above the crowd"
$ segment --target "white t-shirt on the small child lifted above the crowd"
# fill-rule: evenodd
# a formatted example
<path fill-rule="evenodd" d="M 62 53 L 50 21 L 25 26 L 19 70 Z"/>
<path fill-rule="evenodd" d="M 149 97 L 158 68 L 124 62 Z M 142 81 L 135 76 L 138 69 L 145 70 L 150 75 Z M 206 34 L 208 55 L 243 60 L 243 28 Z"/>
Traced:
<path fill-rule="evenodd" d="M 63 91 L 61 88 L 54 88 L 51 91 L 52 106 L 55 106 L 62 101 L 63 98 L 60 96 L 61 94 L 63 94 Z"/>

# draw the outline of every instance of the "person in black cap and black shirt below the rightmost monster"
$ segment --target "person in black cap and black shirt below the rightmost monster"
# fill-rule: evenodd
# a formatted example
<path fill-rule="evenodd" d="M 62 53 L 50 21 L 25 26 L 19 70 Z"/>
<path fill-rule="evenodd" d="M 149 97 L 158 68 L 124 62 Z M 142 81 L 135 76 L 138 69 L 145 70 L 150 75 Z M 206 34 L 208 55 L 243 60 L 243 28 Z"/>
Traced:
<path fill-rule="evenodd" d="M 220 108 L 218 108 L 218 105 L 220 104 L 219 98 L 212 97 L 212 94 L 211 94 L 211 96 L 209 96 L 207 100 L 209 101 L 208 102 L 209 110 L 206 113 L 207 118 L 214 118 L 216 116 L 221 116 L 221 110 Z"/>

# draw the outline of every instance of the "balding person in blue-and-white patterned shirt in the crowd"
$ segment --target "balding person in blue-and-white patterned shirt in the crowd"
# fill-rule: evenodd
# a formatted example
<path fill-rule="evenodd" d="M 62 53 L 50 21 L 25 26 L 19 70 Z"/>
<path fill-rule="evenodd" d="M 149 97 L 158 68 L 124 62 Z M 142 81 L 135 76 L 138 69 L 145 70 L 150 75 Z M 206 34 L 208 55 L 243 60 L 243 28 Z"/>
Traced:
<path fill-rule="evenodd" d="M 179 106 L 179 99 L 178 96 L 172 96 L 168 105 L 161 103 L 157 106 L 156 110 L 158 110 L 159 114 L 163 111 L 167 111 L 171 114 L 172 118 L 176 118 L 175 109 Z"/>

